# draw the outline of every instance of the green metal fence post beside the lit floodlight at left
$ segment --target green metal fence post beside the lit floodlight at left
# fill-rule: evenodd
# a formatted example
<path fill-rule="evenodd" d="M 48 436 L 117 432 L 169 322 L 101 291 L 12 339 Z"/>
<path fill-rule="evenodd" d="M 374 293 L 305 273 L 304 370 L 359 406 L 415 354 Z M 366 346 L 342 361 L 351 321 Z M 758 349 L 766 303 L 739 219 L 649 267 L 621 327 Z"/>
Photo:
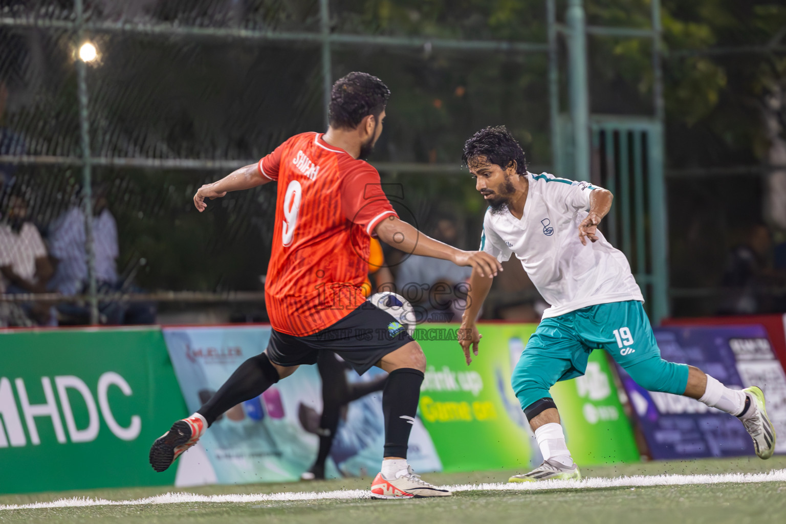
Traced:
<path fill-rule="evenodd" d="M 87 112 L 87 64 L 79 57 L 84 39 L 83 0 L 75 0 L 76 12 L 76 82 L 79 93 L 79 130 L 82 145 L 82 211 L 85 217 L 85 253 L 87 258 L 87 295 L 90 301 L 90 324 L 98 324 L 96 262 L 93 249 L 93 177 L 90 161 L 90 122 Z"/>

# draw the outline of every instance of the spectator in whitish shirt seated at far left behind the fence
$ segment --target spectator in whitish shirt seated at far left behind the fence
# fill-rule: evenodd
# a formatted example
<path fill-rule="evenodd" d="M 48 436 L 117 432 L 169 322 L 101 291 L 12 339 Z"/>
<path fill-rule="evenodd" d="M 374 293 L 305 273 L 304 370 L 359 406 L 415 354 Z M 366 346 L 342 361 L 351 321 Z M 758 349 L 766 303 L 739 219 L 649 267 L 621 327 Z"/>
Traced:
<path fill-rule="evenodd" d="M 28 202 L 24 192 L 17 190 L 7 199 L 0 222 L 0 292 L 8 294 L 42 293 L 52 277 L 53 269 L 39 229 L 28 220 Z M 28 325 L 20 319 L 19 310 L 35 324 L 53 325 L 50 307 L 25 302 L 16 308 L 6 306 L 6 324 Z"/>

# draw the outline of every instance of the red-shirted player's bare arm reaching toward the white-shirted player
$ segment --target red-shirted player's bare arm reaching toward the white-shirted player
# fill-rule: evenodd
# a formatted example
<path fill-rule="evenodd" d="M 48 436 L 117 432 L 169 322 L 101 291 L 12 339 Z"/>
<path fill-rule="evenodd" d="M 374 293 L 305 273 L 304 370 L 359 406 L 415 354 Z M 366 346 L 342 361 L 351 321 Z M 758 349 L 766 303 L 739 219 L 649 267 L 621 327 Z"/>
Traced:
<path fill-rule="evenodd" d="M 496 258 L 483 251 L 461 251 L 424 235 L 412 225 L 402 222 L 398 217 L 385 218 L 374 229 L 376 236 L 385 244 L 405 253 L 450 260 L 457 266 L 472 266 L 473 273 L 479 272 L 481 277 L 494 277 L 502 270 Z"/>

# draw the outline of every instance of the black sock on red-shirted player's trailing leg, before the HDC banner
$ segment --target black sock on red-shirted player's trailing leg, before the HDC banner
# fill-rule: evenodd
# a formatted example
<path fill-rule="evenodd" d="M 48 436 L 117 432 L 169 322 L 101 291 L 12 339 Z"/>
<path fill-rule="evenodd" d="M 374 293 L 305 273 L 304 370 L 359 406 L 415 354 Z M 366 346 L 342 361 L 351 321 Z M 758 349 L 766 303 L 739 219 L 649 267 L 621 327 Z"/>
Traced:
<path fill-rule="evenodd" d="M 222 416 L 227 409 L 243 401 L 259 397 L 265 390 L 278 382 L 278 372 L 270 364 L 267 354 L 249 358 L 224 383 L 218 393 L 196 412 L 208 421 L 208 427 Z"/>

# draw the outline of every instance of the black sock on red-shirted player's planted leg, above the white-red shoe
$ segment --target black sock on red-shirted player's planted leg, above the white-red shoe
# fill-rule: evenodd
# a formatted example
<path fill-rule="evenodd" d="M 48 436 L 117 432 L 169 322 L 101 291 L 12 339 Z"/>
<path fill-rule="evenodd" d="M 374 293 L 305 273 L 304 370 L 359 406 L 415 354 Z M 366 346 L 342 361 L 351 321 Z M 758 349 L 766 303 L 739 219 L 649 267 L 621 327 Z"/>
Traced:
<path fill-rule="evenodd" d="M 382 412 L 385 416 L 385 450 L 383 456 L 406 459 L 417 401 L 421 398 L 423 372 L 413 368 L 394 369 L 387 376 L 382 393 Z"/>

